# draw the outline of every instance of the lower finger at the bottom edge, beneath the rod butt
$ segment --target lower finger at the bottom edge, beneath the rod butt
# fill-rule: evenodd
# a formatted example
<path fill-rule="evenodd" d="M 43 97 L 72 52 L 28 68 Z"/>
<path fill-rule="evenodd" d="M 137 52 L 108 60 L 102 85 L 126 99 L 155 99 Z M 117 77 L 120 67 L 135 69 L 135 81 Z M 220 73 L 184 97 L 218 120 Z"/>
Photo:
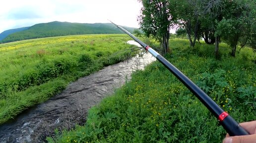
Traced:
<path fill-rule="evenodd" d="M 256 143 L 256 134 L 228 137 L 223 140 L 223 143 Z"/>

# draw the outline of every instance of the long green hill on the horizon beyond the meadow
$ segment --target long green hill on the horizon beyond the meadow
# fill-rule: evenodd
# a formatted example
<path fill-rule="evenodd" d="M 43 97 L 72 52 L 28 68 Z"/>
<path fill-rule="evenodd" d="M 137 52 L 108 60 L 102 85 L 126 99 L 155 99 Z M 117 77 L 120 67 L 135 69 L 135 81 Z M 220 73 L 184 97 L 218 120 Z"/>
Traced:
<path fill-rule="evenodd" d="M 129 32 L 134 28 L 125 27 Z M 2 43 L 19 41 L 25 39 L 85 35 L 85 34 L 121 34 L 122 32 L 111 23 L 70 23 L 54 21 L 50 23 L 40 23 L 28 29 L 8 35 L 2 39 Z"/>

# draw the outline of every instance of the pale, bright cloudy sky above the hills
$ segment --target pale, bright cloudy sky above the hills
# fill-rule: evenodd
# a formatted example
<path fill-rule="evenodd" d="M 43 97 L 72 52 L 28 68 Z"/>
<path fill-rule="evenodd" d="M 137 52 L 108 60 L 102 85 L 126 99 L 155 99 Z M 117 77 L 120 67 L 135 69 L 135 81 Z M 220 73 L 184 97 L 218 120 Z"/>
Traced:
<path fill-rule="evenodd" d="M 52 21 L 109 23 L 138 28 L 137 0 L 1 0 L 0 33 Z"/>

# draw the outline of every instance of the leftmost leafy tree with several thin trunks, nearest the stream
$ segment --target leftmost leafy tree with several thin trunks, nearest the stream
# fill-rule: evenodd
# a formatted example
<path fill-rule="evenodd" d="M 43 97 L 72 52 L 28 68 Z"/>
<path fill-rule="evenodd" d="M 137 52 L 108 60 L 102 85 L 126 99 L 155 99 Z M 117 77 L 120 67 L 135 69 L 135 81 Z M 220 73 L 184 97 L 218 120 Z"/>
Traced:
<path fill-rule="evenodd" d="M 170 28 L 176 16 L 175 0 L 138 0 L 142 3 L 141 15 L 138 17 L 140 29 L 146 36 L 153 36 L 160 42 L 162 53 L 169 51 Z"/>

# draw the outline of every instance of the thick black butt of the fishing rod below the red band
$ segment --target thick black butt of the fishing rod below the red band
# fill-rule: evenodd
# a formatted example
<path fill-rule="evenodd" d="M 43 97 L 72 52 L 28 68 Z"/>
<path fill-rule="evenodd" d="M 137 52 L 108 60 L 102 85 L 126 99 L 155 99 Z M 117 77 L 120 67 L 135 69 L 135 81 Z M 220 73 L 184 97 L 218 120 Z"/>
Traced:
<path fill-rule="evenodd" d="M 228 115 L 223 121 L 220 121 L 222 127 L 227 131 L 229 136 L 243 136 L 249 135 L 249 133 L 240 126 L 236 120 Z"/>

